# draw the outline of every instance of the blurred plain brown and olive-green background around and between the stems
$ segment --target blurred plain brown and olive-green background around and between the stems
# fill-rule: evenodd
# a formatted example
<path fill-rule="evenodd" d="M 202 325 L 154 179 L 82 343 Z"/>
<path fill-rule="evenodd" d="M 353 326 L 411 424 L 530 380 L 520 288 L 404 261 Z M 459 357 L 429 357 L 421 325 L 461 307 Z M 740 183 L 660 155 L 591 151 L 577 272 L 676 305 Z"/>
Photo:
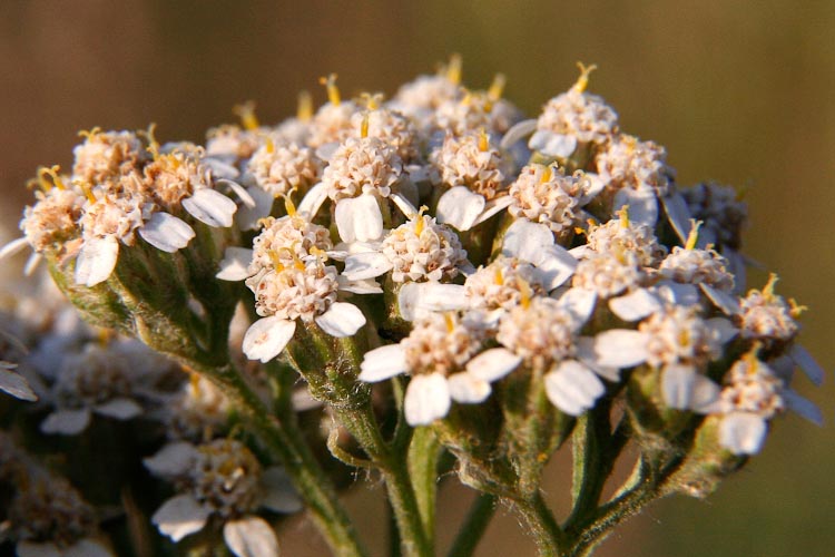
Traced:
<path fill-rule="evenodd" d="M 665 145 L 681 184 L 748 186 L 745 252 L 779 273 L 779 293 L 811 307 L 802 343 L 835 370 L 835 2 L 424 0 L 3 0 L 0 7 L 0 192 L 13 228 L 38 165 L 71 163 L 76 133 L 145 128 L 160 140 L 202 141 L 258 104 L 262 121 L 295 111 L 296 94 L 340 74 L 346 95 L 393 94 L 451 52 L 464 82 L 508 77 L 505 96 L 536 116 L 596 62 L 590 90 L 621 129 Z M 749 286 L 762 286 L 753 271 Z M 835 378 L 798 390 L 835 422 Z M 705 501 L 676 497 L 621 527 L 596 554 L 623 556 L 833 555 L 835 434 L 788 417 L 762 456 Z M 544 487 L 564 508 L 567 456 Z M 360 479 L 351 509 L 384 547 L 379 486 Z M 452 538 L 471 496 L 441 495 L 439 534 Z M 323 555 L 304 520 L 282 532 L 284 555 Z M 499 510 L 480 556 L 533 555 Z"/>

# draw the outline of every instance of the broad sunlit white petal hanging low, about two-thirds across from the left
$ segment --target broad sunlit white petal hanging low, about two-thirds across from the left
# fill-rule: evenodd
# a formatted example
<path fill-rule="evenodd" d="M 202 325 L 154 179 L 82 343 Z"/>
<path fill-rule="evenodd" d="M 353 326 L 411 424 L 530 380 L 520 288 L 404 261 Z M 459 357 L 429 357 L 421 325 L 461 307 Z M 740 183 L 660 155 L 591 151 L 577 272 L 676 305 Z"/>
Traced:
<path fill-rule="evenodd" d="M 603 382 L 591 370 L 573 360 L 567 360 L 546 373 L 544 382 L 548 400 L 571 416 L 580 416 L 592 408 L 606 392 Z"/>

